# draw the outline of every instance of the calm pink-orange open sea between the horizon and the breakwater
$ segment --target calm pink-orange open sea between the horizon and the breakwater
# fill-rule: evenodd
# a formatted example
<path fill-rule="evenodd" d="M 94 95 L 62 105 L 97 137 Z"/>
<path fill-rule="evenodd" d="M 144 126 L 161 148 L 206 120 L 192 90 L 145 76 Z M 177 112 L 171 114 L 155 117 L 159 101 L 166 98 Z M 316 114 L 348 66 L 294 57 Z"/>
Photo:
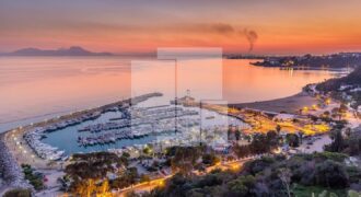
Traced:
<path fill-rule="evenodd" d="M 165 95 L 156 104 L 175 92 L 220 103 L 272 100 L 336 74 L 254 67 L 249 60 L 176 63 L 177 78 L 174 61 L 139 57 L 0 57 L 0 131 L 154 91 Z"/>

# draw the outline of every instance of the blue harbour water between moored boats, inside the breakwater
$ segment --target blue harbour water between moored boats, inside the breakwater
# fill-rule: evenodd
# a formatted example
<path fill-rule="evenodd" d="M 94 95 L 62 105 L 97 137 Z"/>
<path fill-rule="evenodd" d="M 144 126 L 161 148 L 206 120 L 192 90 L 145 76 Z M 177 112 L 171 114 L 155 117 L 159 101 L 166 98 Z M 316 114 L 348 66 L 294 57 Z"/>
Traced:
<path fill-rule="evenodd" d="M 140 106 L 140 105 L 139 105 Z M 172 106 L 173 107 L 173 106 Z M 233 126 L 240 126 L 242 128 L 247 128 L 247 124 L 244 124 L 243 121 L 235 119 L 233 117 L 228 117 L 224 115 L 220 115 L 216 112 L 210 112 L 207 109 L 200 111 L 198 107 L 187 107 L 185 109 L 193 109 L 199 113 L 199 115 L 195 116 L 187 116 L 187 119 L 191 118 L 201 118 L 199 123 L 201 123 L 202 128 L 214 128 L 216 126 L 221 126 L 221 125 L 233 125 Z M 95 124 L 105 124 L 109 121 L 109 118 L 114 117 L 119 117 L 121 113 L 119 112 L 107 112 L 105 114 L 102 114 L 101 117 L 94 120 L 88 120 L 84 123 L 81 123 L 80 125 L 67 127 L 54 132 L 48 132 L 46 134 L 45 139 L 42 141 L 45 143 L 50 144 L 51 147 L 56 147 L 59 150 L 65 151 L 66 155 L 70 155 L 71 153 L 74 152 L 94 152 L 94 151 L 106 151 L 108 149 L 121 149 L 124 147 L 130 147 L 135 144 L 145 144 L 145 143 L 160 143 L 164 142 L 165 140 L 179 140 L 182 142 L 185 142 L 184 139 L 182 139 L 182 136 L 184 137 L 185 135 L 178 134 L 178 136 L 175 136 L 174 131 L 168 131 L 168 132 L 162 132 L 158 135 L 149 135 L 143 138 L 139 139 L 121 139 L 117 140 L 114 143 L 106 143 L 106 144 L 95 144 L 95 146 L 90 146 L 90 147 L 82 147 L 79 146 L 78 143 L 78 137 L 85 137 L 85 136 L 93 136 L 94 134 L 91 134 L 89 131 L 82 131 L 79 132 L 78 130 L 81 128 L 84 128 L 89 125 L 95 125 Z M 200 116 L 201 114 L 201 116 Z M 207 117 L 212 117 L 211 119 L 208 119 Z M 194 129 L 199 130 L 200 124 L 197 126 L 193 127 Z M 188 128 L 187 131 L 189 132 L 191 128 Z M 116 129 L 115 129 L 116 130 Z M 109 134 L 115 130 L 107 130 L 107 131 L 102 131 L 101 134 Z M 196 131 L 196 135 L 186 135 L 186 136 L 191 136 L 191 140 L 189 141 L 197 141 L 199 140 L 198 131 Z M 205 135 L 205 134 L 203 134 Z M 223 139 L 226 139 L 226 132 L 224 135 L 221 135 Z"/>

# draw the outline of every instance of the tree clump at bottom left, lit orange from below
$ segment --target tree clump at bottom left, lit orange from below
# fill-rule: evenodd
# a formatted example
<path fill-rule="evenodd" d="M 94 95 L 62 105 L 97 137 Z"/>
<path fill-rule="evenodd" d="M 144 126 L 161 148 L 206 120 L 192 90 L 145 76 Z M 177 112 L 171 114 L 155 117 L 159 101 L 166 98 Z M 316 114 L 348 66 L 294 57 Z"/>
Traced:
<path fill-rule="evenodd" d="M 74 154 L 66 167 L 67 174 L 59 179 L 62 189 L 74 196 L 110 195 L 110 189 L 149 182 L 148 175 L 140 175 L 137 167 L 128 166 L 129 158 L 128 153 L 118 157 L 110 152 Z"/>

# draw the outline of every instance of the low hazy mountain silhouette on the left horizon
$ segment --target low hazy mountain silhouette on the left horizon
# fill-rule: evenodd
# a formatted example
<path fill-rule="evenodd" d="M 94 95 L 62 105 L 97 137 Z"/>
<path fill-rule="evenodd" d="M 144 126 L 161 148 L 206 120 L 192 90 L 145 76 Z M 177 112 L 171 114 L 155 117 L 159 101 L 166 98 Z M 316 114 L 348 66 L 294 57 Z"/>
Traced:
<path fill-rule="evenodd" d="M 23 48 L 2 56 L 112 56 L 110 53 L 92 53 L 79 46 L 60 48 L 57 50 L 43 50 L 38 48 Z"/>

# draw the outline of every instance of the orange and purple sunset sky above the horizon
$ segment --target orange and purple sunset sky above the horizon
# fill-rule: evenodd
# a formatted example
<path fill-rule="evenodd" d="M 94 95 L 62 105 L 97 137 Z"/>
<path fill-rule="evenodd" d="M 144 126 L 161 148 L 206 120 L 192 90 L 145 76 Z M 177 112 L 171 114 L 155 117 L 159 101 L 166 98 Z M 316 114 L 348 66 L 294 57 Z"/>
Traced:
<path fill-rule="evenodd" d="M 361 50 L 360 0 L 0 0 L 0 51 L 82 46 L 147 53 L 222 47 L 253 54 Z"/>

